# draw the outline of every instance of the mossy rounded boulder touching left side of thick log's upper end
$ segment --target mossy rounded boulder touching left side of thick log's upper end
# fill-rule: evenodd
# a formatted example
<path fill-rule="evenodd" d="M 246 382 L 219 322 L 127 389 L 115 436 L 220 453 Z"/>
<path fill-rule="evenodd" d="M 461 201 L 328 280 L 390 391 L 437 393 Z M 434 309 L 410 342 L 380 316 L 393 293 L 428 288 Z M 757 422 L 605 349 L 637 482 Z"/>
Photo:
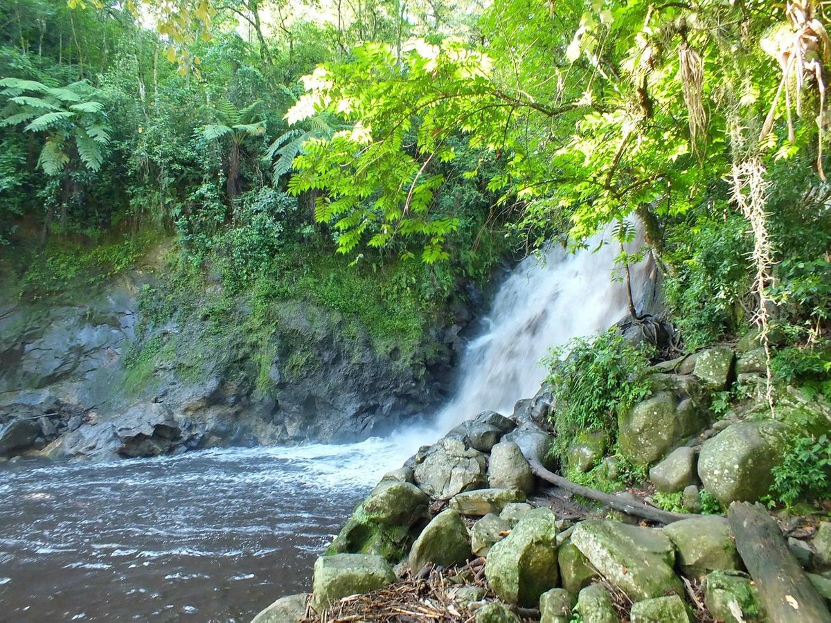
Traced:
<path fill-rule="evenodd" d="M 727 518 L 705 515 L 683 519 L 672 522 L 663 531 L 675 545 L 681 572 L 687 577 L 697 579 L 710 571 L 741 568 Z"/>

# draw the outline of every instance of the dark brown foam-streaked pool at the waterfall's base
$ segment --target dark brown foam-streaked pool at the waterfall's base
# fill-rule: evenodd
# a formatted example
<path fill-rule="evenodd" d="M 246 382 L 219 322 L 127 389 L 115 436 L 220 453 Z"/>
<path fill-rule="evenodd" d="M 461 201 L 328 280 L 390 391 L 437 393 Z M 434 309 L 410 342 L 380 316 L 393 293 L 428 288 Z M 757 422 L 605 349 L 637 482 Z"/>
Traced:
<path fill-rule="evenodd" d="M 394 441 L 0 466 L 3 621 L 250 621 L 312 564 Z"/>

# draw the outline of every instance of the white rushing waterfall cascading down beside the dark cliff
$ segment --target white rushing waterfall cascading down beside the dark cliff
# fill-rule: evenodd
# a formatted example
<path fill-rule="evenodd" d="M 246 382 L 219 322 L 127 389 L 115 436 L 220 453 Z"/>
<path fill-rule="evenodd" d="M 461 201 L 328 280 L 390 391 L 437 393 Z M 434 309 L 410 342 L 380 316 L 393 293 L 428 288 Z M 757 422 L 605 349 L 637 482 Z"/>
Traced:
<path fill-rule="evenodd" d="M 454 397 L 429 432 L 411 431 L 411 438 L 433 443 L 484 410 L 510 415 L 517 400 L 539 390 L 546 375 L 539 361 L 550 347 L 597 335 L 627 315 L 626 286 L 612 278 L 619 248 L 606 243 L 595 251 L 604 238 L 609 234 L 598 234 L 576 253 L 550 245 L 541 257 L 531 255 L 514 267 L 494 297 L 486 330 L 465 350 Z M 636 301 L 644 263 L 632 267 Z"/>

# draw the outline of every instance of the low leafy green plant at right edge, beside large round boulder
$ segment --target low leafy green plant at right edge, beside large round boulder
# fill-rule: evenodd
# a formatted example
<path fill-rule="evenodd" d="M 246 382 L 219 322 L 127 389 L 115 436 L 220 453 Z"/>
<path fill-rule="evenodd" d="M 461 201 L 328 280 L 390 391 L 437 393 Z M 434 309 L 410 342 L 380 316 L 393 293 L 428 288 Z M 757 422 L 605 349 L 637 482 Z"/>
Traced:
<path fill-rule="evenodd" d="M 831 444 L 827 435 L 797 437 L 771 470 L 774 483 L 768 502 L 791 507 L 799 500 L 831 496 Z"/>

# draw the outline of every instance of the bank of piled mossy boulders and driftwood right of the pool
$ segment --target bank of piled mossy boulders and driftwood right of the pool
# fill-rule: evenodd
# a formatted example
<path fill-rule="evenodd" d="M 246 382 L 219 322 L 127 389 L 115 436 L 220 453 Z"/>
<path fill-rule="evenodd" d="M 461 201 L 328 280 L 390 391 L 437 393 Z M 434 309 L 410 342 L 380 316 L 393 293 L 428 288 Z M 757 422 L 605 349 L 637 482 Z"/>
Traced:
<path fill-rule="evenodd" d="M 312 591 L 254 621 L 831 621 L 831 522 L 750 505 L 786 439 L 828 430 L 831 408 L 793 391 L 771 415 L 763 369 L 752 336 L 657 365 L 614 456 L 592 435 L 554 454 L 544 388 L 509 417 L 479 414 L 386 474 L 317 560 Z M 716 417 L 713 396 L 736 382 L 749 398 Z M 619 503 L 548 482 L 613 478 L 622 462 L 649 480 Z M 687 513 L 639 511 L 660 493 Z"/>

